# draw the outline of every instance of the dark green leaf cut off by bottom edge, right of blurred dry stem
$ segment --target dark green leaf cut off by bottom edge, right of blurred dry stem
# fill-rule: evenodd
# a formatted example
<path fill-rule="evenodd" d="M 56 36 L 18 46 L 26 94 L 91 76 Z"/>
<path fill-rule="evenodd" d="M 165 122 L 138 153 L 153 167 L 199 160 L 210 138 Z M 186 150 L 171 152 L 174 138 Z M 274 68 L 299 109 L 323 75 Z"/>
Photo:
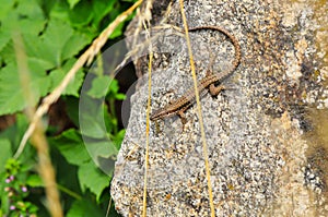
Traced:
<path fill-rule="evenodd" d="M 104 217 L 104 214 L 99 210 L 98 205 L 95 205 L 91 201 L 80 200 L 74 201 L 73 205 L 69 209 L 67 217 Z"/>

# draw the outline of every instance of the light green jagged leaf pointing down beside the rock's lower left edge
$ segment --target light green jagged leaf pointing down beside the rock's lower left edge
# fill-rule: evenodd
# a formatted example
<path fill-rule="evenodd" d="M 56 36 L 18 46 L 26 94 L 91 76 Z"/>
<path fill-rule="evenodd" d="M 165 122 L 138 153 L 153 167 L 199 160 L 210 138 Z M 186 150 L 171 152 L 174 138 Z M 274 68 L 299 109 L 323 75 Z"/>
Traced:
<path fill-rule="evenodd" d="M 80 166 L 78 177 L 82 191 L 90 189 L 96 195 L 97 201 L 104 189 L 109 185 L 109 177 L 97 169 L 92 160 Z"/>

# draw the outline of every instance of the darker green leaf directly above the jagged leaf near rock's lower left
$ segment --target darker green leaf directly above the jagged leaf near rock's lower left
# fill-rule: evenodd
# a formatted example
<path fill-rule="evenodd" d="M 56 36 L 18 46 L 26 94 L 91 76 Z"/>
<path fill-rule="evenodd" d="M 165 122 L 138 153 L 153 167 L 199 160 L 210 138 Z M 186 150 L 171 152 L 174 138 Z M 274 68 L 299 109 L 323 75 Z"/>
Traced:
<path fill-rule="evenodd" d="M 90 155 L 77 130 L 65 131 L 58 137 L 51 138 L 50 143 L 59 149 L 69 164 L 79 166 L 90 160 Z"/>

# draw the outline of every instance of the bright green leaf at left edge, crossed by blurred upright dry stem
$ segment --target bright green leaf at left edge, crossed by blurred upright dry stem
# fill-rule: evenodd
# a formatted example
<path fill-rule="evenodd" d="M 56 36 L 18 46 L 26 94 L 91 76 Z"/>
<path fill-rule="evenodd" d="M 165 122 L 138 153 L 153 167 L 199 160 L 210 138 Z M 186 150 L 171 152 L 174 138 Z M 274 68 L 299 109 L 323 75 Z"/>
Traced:
<path fill-rule="evenodd" d="M 40 65 L 33 60 L 28 61 L 28 68 L 30 81 L 27 86 L 35 99 L 35 105 L 39 97 L 47 93 L 50 81 L 46 76 L 46 72 L 40 69 Z M 10 63 L 2 68 L 0 70 L 0 116 L 13 113 L 25 108 L 25 94 L 26 89 L 22 87 L 16 65 Z"/>

